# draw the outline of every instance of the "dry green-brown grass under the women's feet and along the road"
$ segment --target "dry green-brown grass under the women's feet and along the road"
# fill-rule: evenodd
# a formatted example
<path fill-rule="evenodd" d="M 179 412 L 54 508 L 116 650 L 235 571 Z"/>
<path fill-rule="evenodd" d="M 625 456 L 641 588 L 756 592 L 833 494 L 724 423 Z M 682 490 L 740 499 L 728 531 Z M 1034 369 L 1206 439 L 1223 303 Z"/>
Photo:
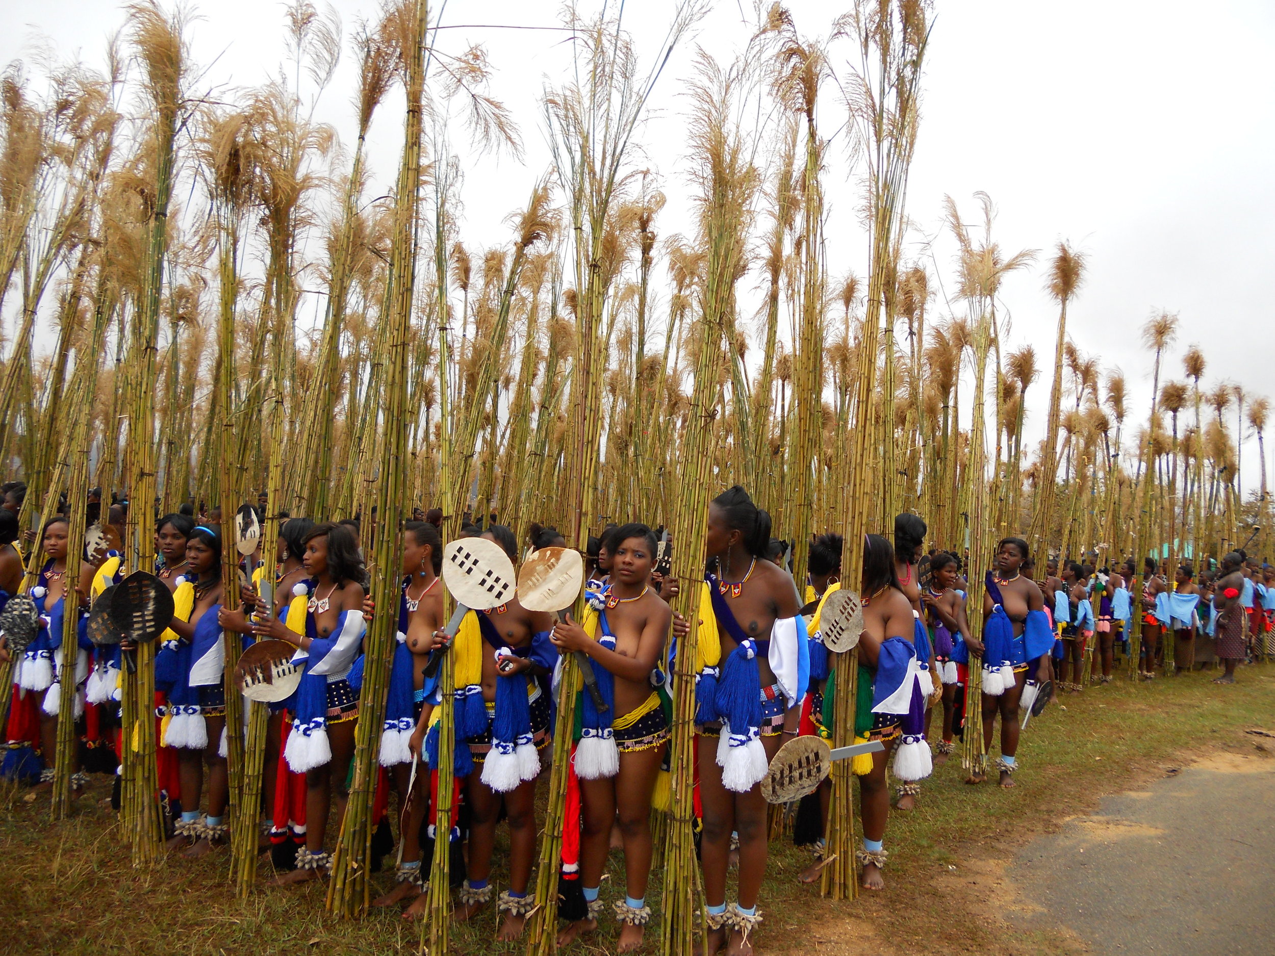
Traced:
<path fill-rule="evenodd" d="M 1066 952 L 1065 941 L 1011 933 L 988 918 L 987 901 L 1003 901 L 1009 892 L 1001 880 L 1003 860 L 1031 835 L 1090 809 L 1104 794 L 1162 775 L 1195 753 L 1253 753 L 1255 742 L 1269 743 L 1243 730 L 1275 729 L 1275 667 L 1242 668 L 1233 687 L 1213 684 L 1210 677 L 1156 679 L 1150 686 L 1119 681 L 1063 697 L 1063 706 L 1049 707 L 1024 734 L 1023 769 L 1012 790 L 965 785 L 959 761 L 938 769 L 926 781 L 918 809 L 891 815 L 884 894 L 850 904 L 824 901 L 816 888 L 794 878 L 810 862 L 808 853 L 787 841 L 774 844 L 759 951 Z M 119 845 L 113 815 L 101 804 L 107 793 L 105 779 L 94 783 L 78 802 L 76 816 L 59 825 L 47 822 L 43 794 L 11 786 L 0 794 L 0 911 L 8 936 L 0 951 L 389 953 L 418 946 L 418 924 L 397 911 L 356 922 L 328 916 L 317 883 L 263 886 L 250 899 L 236 900 L 224 855 L 173 859 L 152 872 L 134 872 Z M 612 872 L 621 872 L 617 855 L 611 863 Z M 263 864 L 263 880 L 268 869 Z M 388 888 L 391 877 L 375 880 Z M 606 899 L 622 894 L 609 883 L 603 883 Z M 648 899 L 659 900 L 658 867 Z M 497 945 L 495 928 L 495 913 L 486 913 L 458 927 L 454 948 L 520 950 Z M 613 941 L 608 922 L 586 946 L 613 950 Z M 576 950 L 584 952 L 580 945 Z"/>

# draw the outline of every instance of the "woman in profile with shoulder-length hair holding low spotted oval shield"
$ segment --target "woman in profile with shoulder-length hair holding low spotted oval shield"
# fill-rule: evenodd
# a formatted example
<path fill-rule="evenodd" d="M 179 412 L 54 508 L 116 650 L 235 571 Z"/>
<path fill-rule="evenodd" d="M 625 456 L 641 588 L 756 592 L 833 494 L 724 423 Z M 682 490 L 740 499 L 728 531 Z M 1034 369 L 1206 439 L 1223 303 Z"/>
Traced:
<path fill-rule="evenodd" d="M 334 795 L 337 820 L 346 811 L 346 778 L 358 718 L 358 697 L 347 677 L 366 631 L 363 558 L 353 532 L 346 525 L 315 525 L 305 548 L 301 563 L 314 581 L 305 635 L 277 617 L 252 627 L 259 637 L 296 644 L 297 658 L 306 662 L 284 748 L 288 766 L 306 775 L 306 845 L 297 850 L 297 868 L 277 880 L 280 885 L 317 880 L 332 865 L 324 837 Z"/>

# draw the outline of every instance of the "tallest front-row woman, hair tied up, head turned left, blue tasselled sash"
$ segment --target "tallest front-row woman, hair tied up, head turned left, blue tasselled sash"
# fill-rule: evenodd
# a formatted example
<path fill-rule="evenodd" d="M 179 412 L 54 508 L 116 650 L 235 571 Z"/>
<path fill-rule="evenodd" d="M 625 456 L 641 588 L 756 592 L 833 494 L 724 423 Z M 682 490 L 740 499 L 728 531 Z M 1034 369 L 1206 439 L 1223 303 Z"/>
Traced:
<path fill-rule="evenodd" d="M 761 920 L 757 895 L 766 868 L 766 802 L 760 780 L 779 746 L 797 735 L 799 701 L 810 678 L 797 586 L 792 575 L 766 560 L 769 544 L 770 515 L 743 488 L 734 486 L 713 500 L 705 540 L 706 600 L 713 616 L 700 622 L 695 718 L 706 953 L 725 945 L 731 953 L 752 950 L 748 933 Z M 776 673 L 773 664 L 780 662 Z M 732 832 L 740 836 L 740 897 L 727 909 Z"/>

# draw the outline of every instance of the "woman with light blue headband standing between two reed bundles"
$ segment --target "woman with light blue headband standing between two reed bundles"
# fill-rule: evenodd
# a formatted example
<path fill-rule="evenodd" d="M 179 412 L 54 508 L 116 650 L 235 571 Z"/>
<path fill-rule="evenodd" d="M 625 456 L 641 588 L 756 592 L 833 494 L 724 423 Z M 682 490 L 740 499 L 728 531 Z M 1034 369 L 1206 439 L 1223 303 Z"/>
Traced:
<path fill-rule="evenodd" d="M 229 781 L 222 732 L 226 729 L 226 645 L 218 612 L 222 604 L 222 540 L 207 525 L 195 526 L 187 537 L 181 577 L 190 583 L 193 603 L 189 619 L 173 618 L 177 648 L 161 653 L 172 655 L 177 679 L 168 693 L 172 716 L 166 742 L 177 748 L 177 774 L 181 788 L 181 821 L 170 849 L 185 846 L 182 855 L 195 859 L 213 846 L 224 845 L 229 827 L 223 822 L 229 803 Z M 157 670 L 166 662 L 156 662 Z M 208 813 L 200 817 L 204 767 L 208 769 Z"/>

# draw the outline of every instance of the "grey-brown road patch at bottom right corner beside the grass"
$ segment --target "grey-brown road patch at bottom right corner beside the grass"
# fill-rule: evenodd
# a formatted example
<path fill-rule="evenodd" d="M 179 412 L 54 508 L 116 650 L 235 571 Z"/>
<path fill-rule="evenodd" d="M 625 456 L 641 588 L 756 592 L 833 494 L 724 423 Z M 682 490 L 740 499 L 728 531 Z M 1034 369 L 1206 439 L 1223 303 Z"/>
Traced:
<path fill-rule="evenodd" d="M 1025 934 L 1103 955 L 1270 956 L 1275 760 L 1219 752 L 1109 797 L 1005 876 Z"/>

